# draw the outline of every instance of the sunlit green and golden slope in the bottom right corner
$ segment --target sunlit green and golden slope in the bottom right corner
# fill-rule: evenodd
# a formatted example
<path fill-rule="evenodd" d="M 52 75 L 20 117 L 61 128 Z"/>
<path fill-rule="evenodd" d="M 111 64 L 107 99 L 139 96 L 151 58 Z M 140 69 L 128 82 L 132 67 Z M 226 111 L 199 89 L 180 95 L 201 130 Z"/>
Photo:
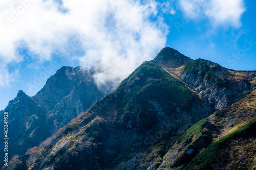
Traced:
<path fill-rule="evenodd" d="M 254 169 L 255 113 L 252 92 L 193 125 L 170 148 L 159 169 Z"/>

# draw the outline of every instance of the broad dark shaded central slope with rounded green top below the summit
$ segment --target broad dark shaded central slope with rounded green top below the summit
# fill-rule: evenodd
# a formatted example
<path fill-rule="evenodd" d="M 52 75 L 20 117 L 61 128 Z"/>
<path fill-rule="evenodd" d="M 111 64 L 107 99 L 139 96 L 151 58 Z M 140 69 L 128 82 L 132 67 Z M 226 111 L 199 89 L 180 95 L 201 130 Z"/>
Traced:
<path fill-rule="evenodd" d="M 36 156 L 28 159 L 29 168 L 121 169 L 137 160 L 136 168 L 156 141 L 175 137 L 187 123 L 211 113 L 207 102 L 181 81 L 145 62 L 114 93 L 58 135 L 45 147 L 47 152 L 38 148 Z"/>

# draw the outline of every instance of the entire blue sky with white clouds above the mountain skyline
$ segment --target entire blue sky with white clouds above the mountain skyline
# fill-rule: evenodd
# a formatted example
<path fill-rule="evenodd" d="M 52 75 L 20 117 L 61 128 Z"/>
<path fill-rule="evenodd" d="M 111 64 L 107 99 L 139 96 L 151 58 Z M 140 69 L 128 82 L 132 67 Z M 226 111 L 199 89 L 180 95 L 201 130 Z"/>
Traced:
<path fill-rule="evenodd" d="M 0 110 L 18 90 L 33 96 L 61 66 L 104 71 L 120 83 L 165 46 L 192 59 L 256 70 L 252 0 L 2 0 Z"/>

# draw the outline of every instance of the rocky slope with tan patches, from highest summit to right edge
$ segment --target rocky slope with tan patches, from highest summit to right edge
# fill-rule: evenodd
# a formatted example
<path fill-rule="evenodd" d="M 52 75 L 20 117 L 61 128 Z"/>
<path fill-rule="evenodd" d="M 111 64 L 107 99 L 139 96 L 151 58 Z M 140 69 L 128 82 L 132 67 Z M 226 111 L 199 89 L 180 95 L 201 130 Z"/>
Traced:
<path fill-rule="evenodd" d="M 191 60 L 170 47 L 163 48 L 154 62 L 200 93 L 215 111 L 239 101 L 256 87 L 256 71 L 235 71 L 211 61 Z"/>

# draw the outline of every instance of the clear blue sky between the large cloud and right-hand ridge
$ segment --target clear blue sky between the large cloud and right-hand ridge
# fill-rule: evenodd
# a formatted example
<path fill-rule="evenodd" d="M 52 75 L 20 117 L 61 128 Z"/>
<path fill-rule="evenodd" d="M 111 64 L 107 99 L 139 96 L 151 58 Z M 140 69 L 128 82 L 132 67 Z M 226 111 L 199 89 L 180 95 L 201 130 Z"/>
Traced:
<path fill-rule="evenodd" d="M 256 23 L 253 21 L 256 2 L 244 1 L 244 4 L 246 11 L 238 28 L 226 25 L 214 27 L 207 18 L 189 19 L 179 13 L 178 17 L 167 21 L 172 27 L 166 44 L 192 59 L 203 58 L 236 70 L 255 70 L 256 44 L 245 54 L 243 48 L 247 40 L 256 42 Z M 180 19 L 182 17 L 184 20 Z"/>

